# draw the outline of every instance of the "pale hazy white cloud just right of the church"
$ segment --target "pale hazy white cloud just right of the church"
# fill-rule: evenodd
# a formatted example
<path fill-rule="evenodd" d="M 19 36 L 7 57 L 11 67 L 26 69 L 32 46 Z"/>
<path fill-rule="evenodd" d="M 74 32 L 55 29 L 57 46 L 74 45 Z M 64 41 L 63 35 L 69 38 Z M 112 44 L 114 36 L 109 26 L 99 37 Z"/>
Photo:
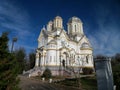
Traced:
<path fill-rule="evenodd" d="M 112 28 L 111 28 L 112 29 Z M 89 39 L 95 50 L 95 54 L 115 54 L 120 50 L 120 35 L 115 29 L 97 30 L 95 36 L 89 36 Z M 109 31 L 110 30 L 110 31 Z"/>

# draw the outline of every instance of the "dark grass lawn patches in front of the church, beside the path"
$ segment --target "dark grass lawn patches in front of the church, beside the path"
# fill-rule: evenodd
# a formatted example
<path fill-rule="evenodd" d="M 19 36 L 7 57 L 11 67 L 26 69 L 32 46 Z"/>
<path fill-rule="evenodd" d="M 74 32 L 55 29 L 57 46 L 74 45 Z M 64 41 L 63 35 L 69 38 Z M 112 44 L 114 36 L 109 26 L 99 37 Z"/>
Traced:
<path fill-rule="evenodd" d="M 57 80 L 57 79 L 64 79 L 65 77 L 52 77 L 53 80 Z M 35 79 L 41 80 L 41 77 L 35 77 Z M 59 85 L 64 85 L 64 86 L 70 86 L 70 87 L 75 87 L 78 88 L 78 79 L 75 78 L 66 78 L 63 81 L 58 81 L 55 82 L 56 84 Z M 48 80 L 47 80 L 48 81 Z M 80 79 L 81 82 L 81 88 L 82 90 L 97 90 L 97 80 L 96 77 L 82 77 Z"/>

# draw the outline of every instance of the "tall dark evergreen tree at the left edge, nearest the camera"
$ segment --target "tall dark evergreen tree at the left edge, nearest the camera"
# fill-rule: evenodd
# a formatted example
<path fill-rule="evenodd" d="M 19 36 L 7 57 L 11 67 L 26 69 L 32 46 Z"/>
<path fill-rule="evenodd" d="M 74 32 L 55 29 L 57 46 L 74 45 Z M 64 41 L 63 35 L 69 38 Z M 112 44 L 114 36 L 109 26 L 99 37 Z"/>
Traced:
<path fill-rule="evenodd" d="M 0 90 L 17 90 L 18 64 L 8 49 L 8 33 L 0 36 Z"/>

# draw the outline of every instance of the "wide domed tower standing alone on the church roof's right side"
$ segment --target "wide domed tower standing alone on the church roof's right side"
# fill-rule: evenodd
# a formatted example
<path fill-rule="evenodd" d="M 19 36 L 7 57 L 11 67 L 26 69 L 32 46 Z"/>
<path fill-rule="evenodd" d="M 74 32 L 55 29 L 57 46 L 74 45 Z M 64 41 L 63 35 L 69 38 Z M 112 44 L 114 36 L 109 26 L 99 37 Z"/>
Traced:
<path fill-rule="evenodd" d="M 67 25 L 69 35 L 83 34 L 83 23 L 78 17 L 70 18 Z"/>

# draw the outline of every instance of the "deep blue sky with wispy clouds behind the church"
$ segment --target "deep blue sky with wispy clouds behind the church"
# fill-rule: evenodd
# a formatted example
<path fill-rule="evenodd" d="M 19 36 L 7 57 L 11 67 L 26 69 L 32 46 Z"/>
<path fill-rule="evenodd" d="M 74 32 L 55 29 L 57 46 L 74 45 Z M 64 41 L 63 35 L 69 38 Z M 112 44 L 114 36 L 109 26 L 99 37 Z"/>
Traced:
<path fill-rule="evenodd" d="M 70 17 L 82 20 L 94 55 L 120 52 L 119 0 L 0 0 L 0 35 L 9 31 L 10 40 L 18 38 L 15 48 L 30 52 L 37 48 L 41 28 L 57 15 L 65 29 Z"/>

